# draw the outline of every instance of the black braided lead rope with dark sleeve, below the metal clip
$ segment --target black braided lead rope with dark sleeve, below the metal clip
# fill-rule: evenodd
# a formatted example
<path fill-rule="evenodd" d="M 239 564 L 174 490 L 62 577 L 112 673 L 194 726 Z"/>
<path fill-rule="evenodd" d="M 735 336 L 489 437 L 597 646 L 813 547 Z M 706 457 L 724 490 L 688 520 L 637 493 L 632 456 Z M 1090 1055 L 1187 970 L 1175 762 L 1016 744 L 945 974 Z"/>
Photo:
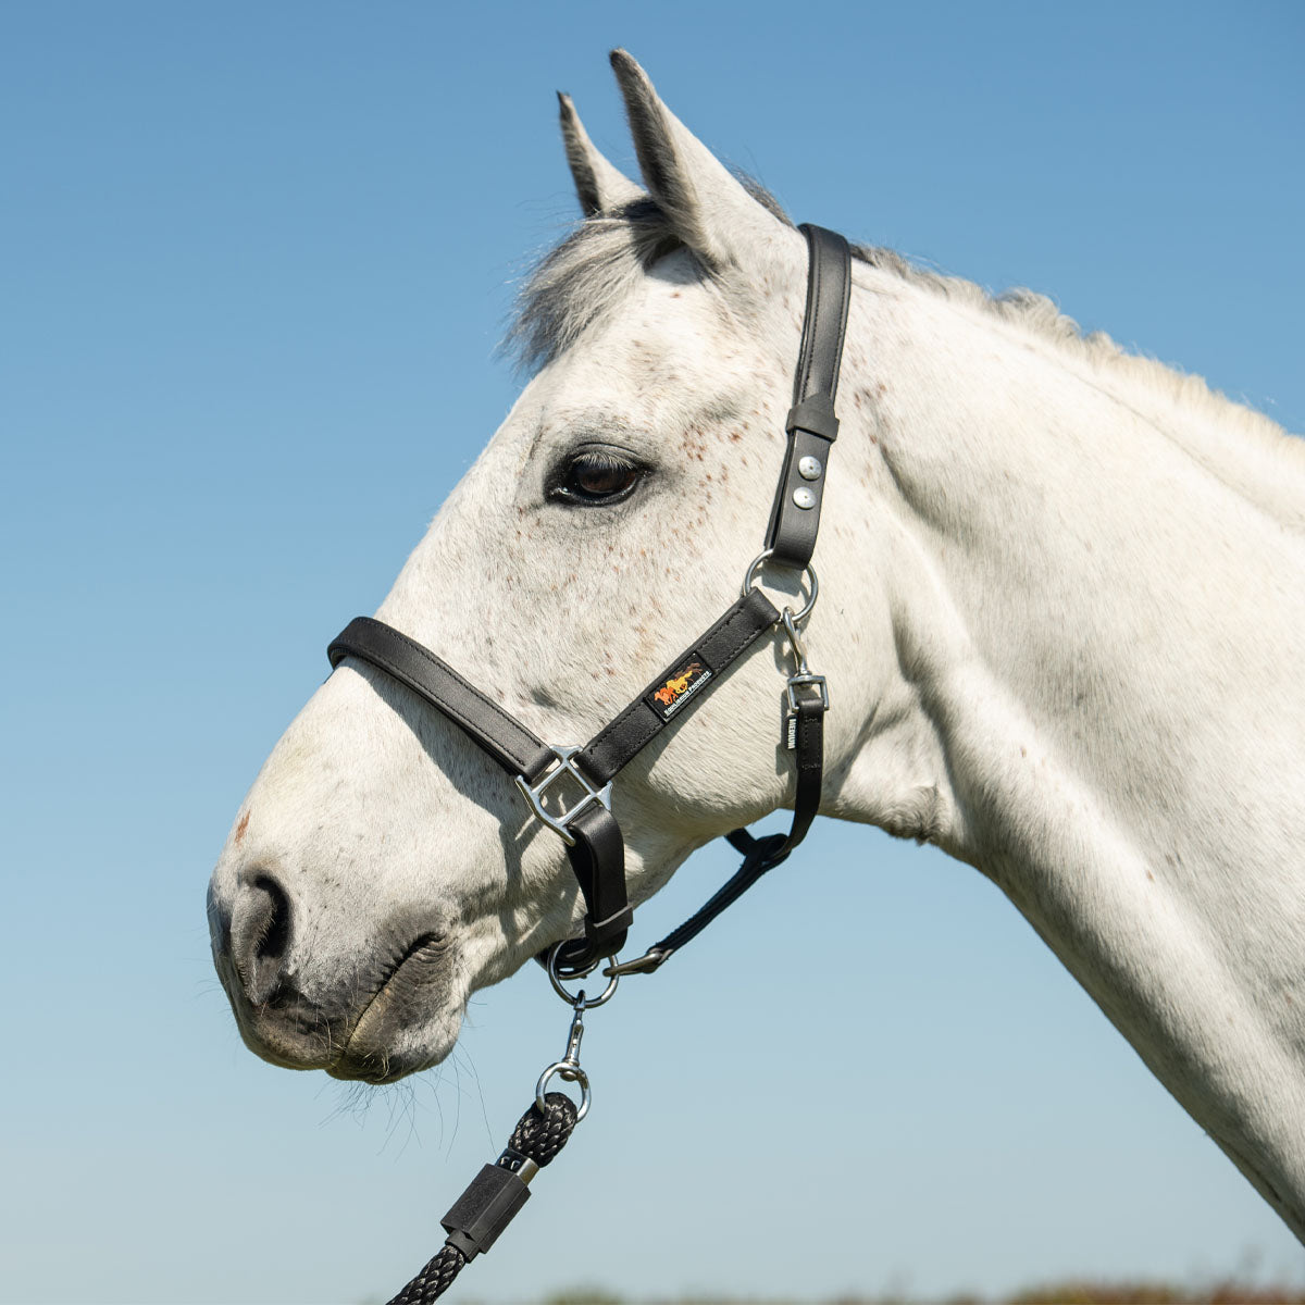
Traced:
<path fill-rule="evenodd" d="M 545 1111 L 536 1103 L 518 1120 L 512 1141 L 495 1164 L 487 1164 L 470 1188 L 444 1216 L 449 1240 L 438 1254 L 395 1296 L 389 1305 L 429 1305 L 452 1285 L 462 1266 L 488 1250 L 512 1216 L 526 1203 L 527 1178 L 518 1173 L 525 1161 L 540 1169 L 553 1158 L 576 1128 L 578 1108 L 565 1092 L 549 1092 Z M 532 1171 L 531 1171 L 532 1172 Z M 458 1242 L 455 1245 L 455 1242 Z"/>

